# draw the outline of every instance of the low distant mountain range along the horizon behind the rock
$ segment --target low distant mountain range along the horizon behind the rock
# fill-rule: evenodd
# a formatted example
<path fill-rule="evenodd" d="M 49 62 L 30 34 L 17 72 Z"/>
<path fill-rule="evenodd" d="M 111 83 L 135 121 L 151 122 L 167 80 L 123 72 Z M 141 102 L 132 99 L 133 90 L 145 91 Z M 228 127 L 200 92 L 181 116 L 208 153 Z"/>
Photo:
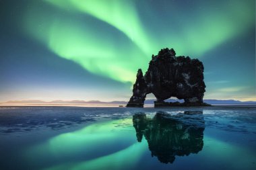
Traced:
<path fill-rule="evenodd" d="M 145 104 L 154 104 L 156 99 L 146 99 Z M 180 99 L 167 99 L 168 102 L 183 102 Z M 239 101 L 234 99 L 204 99 L 205 103 L 209 104 L 256 104 L 256 101 Z M 98 101 L 98 100 L 91 100 L 91 101 L 84 101 L 84 100 L 71 100 L 71 101 L 64 101 L 64 100 L 53 100 L 53 101 L 42 101 L 42 100 L 18 100 L 18 101 L 7 101 L 2 104 L 126 104 L 128 101 Z"/>

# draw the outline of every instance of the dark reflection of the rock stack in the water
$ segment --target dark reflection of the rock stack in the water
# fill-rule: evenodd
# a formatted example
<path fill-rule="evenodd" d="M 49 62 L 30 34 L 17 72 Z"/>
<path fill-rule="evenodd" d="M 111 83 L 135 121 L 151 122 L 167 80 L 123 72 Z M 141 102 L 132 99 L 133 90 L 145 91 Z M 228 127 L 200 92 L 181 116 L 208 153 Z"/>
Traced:
<path fill-rule="evenodd" d="M 152 157 L 161 163 L 173 163 L 175 156 L 188 156 L 203 148 L 203 113 L 186 111 L 176 115 L 157 112 L 154 118 L 138 113 L 133 116 L 138 142 L 148 141 Z"/>

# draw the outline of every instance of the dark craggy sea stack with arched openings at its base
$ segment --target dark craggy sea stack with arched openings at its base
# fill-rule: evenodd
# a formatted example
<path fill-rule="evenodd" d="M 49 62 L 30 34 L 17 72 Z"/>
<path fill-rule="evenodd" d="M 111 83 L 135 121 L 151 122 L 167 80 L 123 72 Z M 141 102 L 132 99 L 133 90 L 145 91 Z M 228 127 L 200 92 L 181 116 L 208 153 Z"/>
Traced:
<path fill-rule="evenodd" d="M 155 107 L 172 105 L 207 105 L 203 103 L 205 83 L 203 82 L 203 63 L 189 56 L 175 56 L 171 48 L 164 48 L 158 55 L 152 55 L 148 71 L 143 75 L 141 69 L 133 85 L 133 96 L 127 107 L 143 107 L 146 95 L 156 96 Z M 165 99 L 177 97 L 184 103 L 169 103 Z"/>

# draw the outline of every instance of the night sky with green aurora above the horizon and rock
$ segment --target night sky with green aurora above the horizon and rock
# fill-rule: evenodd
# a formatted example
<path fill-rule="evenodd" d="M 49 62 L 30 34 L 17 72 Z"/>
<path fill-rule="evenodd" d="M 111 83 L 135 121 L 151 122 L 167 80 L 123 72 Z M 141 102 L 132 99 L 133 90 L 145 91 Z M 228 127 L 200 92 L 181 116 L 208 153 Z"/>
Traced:
<path fill-rule="evenodd" d="M 205 99 L 256 101 L 255 0 L 0 0 L 0 101 L 128 101 L 166 47 L 203 62 Z"/>

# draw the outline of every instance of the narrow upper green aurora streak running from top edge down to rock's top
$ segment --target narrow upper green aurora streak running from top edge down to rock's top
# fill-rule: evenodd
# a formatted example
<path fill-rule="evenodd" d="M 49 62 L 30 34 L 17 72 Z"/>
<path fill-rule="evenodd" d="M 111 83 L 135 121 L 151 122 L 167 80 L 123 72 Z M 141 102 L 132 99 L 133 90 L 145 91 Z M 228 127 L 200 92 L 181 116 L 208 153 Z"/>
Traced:
<path fill-rule="evenodd" d="M 152 48 L 150 48 L 150 40 L 148 36 L 146 36 L 146 32 L 139 21 L 133 1 L 48 1 L 49 3 L 53 3 L 65 9 L 73 8 L 88 13 L 123 32 L 130 40 L 139 46 L 145 54 L 150 54 L 152 51 Z"/>

